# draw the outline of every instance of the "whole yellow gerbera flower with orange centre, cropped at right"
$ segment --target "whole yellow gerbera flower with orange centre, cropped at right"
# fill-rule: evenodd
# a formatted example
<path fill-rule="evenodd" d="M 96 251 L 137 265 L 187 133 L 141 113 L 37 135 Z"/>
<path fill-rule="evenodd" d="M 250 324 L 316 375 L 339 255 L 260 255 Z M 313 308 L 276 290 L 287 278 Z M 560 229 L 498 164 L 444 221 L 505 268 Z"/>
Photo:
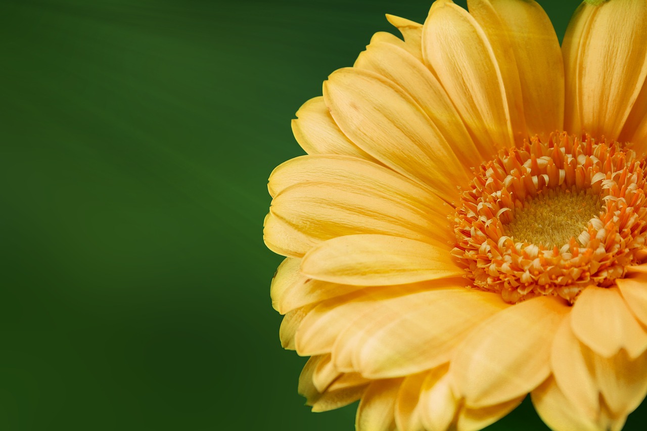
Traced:
<path fill-rule="evenodd" d="M 595 4 L 594 4 L 595 3 Z M 583 3 L 560 49 L 532 0 L 387 16 L 293 120 L 265 243 L 314 411 L 478 430 L 531 394 L 619 430 L 647 392 L 647 0 Z"/>

